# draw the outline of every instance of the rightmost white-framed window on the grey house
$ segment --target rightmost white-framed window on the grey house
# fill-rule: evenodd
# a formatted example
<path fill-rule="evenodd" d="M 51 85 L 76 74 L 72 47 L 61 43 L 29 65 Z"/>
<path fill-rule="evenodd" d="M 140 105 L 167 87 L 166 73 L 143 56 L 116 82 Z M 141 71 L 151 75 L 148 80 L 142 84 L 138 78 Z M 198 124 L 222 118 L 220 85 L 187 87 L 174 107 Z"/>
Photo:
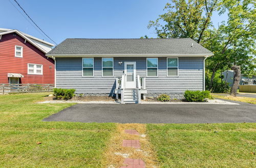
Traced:
<path fill-rule="evenodd" d="M 178 58 L 167 58 L 167 76 L 179 76 Z"/>

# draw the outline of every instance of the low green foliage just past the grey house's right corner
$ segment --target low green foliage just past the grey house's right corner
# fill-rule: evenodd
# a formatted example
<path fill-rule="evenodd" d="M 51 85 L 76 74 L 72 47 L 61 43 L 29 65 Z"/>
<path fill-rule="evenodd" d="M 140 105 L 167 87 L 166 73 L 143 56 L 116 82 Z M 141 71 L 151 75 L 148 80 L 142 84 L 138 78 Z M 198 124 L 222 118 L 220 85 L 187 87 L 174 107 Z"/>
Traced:
<path fill-rule="evenodd" d="M 220 81 L 218 78 L 215 78 L 210 85 L 209 78 L 205 79 L 205 89 L 209 90 L 212 93 L 230 93 L 231 87 L 226 81 Z"/>

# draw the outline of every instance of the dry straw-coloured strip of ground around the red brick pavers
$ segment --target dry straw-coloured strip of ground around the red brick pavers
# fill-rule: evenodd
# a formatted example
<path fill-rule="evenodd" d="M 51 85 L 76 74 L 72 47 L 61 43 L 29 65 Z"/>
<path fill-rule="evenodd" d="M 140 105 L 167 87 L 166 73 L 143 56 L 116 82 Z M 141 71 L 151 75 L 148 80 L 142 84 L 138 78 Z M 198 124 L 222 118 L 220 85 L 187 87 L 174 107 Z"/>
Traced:
<path fill-rule="evenodd" d="M 135 129 L 140 135 L 127 134 L 126 129 Z M 158 167 L 157 157 L 153 151 L 151 143 L 148 141 L 145 124 L 117 124 L 116 131 L 112 134 L 108 148 L 104 155 L 104 167 L 120 167 L 123 165 L 125 156 L 129 158 L 141 159 L 146 163 L 146 167 Z M 140 149 L 123 147 L 122 142 L 125 139 L 139 140 Z"/>

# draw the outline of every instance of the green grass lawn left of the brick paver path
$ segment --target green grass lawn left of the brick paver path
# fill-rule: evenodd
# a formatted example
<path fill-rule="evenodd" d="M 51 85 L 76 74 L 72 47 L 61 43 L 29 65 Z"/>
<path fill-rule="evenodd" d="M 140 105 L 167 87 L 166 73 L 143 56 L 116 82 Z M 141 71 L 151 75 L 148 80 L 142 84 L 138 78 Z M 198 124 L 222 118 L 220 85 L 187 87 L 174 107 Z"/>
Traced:
<path fill-rule="evenodd" d="M 0 167 L 100 167 L 115 124 L 42 122 L 73 105 L 34 103 L 48 94 L 0 96 Z"/>

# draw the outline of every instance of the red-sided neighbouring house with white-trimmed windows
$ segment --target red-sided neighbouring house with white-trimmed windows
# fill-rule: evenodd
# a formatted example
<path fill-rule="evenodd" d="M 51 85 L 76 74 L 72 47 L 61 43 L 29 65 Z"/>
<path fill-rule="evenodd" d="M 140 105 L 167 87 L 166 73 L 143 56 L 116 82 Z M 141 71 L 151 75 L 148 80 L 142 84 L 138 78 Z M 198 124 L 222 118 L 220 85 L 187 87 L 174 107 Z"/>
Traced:
<path fill-rule="evenodd" d="M 18 30 L 0 29 L 0 83 L 54 83 L 54 45 Z"/>

